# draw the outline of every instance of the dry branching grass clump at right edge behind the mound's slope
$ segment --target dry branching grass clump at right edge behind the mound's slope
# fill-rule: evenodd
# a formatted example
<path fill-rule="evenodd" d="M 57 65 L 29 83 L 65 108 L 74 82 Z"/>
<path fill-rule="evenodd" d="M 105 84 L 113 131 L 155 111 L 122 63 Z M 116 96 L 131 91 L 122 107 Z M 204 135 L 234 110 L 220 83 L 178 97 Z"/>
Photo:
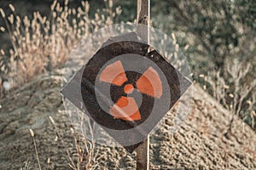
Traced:
<path fill-rule="evenodd" d="M 240 116 L 243 121 L 256 129 L 256 80 L 247 78 L 249 72 L 253 71 L 253 66 L 233 59 L 227 62 L 224 68 L 223 75 L 221 71 L 209 72 L 207 76 L 200 75 L 199 77 L 203 79 L 201 82 L 204 84 L 203 88 L 230 110 L 233 116 Z M 233 117 L 230 120 L 230 128 L 232 122 Z"/>

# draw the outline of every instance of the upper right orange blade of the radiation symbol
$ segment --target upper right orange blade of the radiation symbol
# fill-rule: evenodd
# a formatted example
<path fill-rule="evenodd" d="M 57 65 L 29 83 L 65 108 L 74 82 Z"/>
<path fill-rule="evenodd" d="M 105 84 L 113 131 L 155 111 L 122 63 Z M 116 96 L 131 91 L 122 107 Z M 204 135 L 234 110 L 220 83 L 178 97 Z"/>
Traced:
<path fill-rule="evenodd" d="M 162 82 L 158 73 L 152 67 L 149 67 L 143 73 L 143 76 L 137 80 L 136 85 L 137 89 L 143 94 L 148 94 L 156 98 L 162 96 Z"/>

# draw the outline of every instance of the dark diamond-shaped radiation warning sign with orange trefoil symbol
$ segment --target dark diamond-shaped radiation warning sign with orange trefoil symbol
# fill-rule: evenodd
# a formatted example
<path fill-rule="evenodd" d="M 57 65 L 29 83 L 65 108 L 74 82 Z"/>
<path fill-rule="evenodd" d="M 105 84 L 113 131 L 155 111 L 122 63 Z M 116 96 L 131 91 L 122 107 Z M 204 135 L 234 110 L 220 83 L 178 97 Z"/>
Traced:
<path fill-rule="evenodd" d="M 111 37 L 61 90 L 130 152 L 191 85 L 149 49 L 135 32 Z"/>

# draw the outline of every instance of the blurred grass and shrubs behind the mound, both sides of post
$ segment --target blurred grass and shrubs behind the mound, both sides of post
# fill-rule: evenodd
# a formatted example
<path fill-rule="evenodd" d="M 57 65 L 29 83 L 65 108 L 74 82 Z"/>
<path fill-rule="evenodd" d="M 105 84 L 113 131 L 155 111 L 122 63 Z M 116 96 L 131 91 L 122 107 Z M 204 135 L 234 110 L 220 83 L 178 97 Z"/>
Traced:
<path fill-rule="evenodd" d="M 64 53 L 84 35 L 102 26 L 136 20 L 136 0 L 90 0 L 88 3 L 70 0 L 68 4 L 61 0 L 58 2 L 59 5 L 55 3 L 53 6 L 54 1 L 51 0 L 0 1 L 0 8 L 3 8 L 5 15 L 0 17 L 2 79 L 14 77 L 11 72 L 15 66 L 20 67 L 19 71 L 23 69 L 23 82 L 29 82 L 34 75 L 49 70 L 47 63 L 54 62 L 53 66 L 61 65 L 65 61 Z M 15 9 L 9 6 L 9 3 Z M 34 11 L 39 11 L 40 15 Z M 32 20 L 35 20 L 34 26 L 38 27 L 38 30 L 30 25 L 26 26 L 27 20 L 23 20 L 25 15 L 26 19 L 30 20 L 28 23 L 32 24 Z M 19 24 L 17 16 L 21 19 Z M 256 1 L 151 0 L 151 22 L 151 26 L 166 32 L 167 35 L 176 35 L 179 47 L 189 60 L 195 82 L 226 109 L 241 116 L 255 129 Z M 41 34 L 36 34 L 35 30 Z M 38 36 L 33 37 L 32 34 Z M 28 43 L 28 39 L 36 41 L 38 38 L 42 38 L 44 43 L 32 42 L 33 45 L 36 44 L 35 48 L 29 49 L 32 44 Z M 62 54 L 55 53 L 56 38 L 63 40 L 58 43 L 65 43 L 61 48 L 67 48 Z M 53 51 L 44 53 L 45 49 L 50 47 Z M 34 51 L 38 48 L 43 48 L 43 52 Z M 44 65 L 35 68 L 27 77 L 26 68 L 30 66 L 24 63 L 21 65 L 20 62 L 31 60 L 32 57 L 27 55 L 34 54 L 39 54 L 40 59 L 44 58 L 41 59 Z M 55 61 L 60 55 L 64 57 Z M 35 65 L 35 62 L 31 66 Z"/>

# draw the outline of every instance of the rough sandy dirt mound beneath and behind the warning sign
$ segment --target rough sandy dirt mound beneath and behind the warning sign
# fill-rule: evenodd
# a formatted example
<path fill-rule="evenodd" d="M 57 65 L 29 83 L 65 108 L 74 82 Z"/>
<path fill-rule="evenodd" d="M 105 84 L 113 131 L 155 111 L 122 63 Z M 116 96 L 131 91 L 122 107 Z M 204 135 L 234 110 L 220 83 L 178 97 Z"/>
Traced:
<path fill-rule="evenodd" d="M 0 169 L 38 168 L 29 129 L 34 132 L 42 169 L 71 169 L 67 150 L 78 165 L 76 140 L 70 128 L 73 124 L 60 94 L 61 74 L 58 70 L 52 76 L 37 77 L 0 100 Z M 253 130 L 235 117 L 232 131 L 227 133 L 229 111 L 196 84 L 191 90 L 189 99 L 179 101 L 178 105 L 190 102 L 191 110 L 186 120 L 179 123 L 177 132 L 170 133 L 178 111 L 175 106 L 150 135 L 150 168 L 255 169 Z M 49 116 L 55 120 L 55 126 Z M 100 144 L 93 151 L 92 169 L 135 169 L 136 152 L 130 154 L 122 147 Z"/>

